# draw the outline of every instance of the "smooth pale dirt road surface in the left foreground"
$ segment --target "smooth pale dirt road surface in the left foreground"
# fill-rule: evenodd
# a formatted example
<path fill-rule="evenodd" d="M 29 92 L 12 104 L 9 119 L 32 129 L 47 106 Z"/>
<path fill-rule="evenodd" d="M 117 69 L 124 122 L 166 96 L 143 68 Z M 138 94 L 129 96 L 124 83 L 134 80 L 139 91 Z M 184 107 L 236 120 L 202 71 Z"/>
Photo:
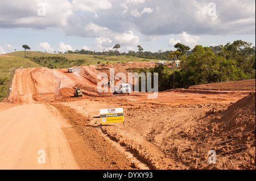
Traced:
<path fill-rule="evenodd" d="M 67 127 L 47 104 L 24 104 L 1 112 L 0 169 L 79 169 L 61 130 Z M 38 162 L 44 156 L 40 150 L 45 163 Z"/>

